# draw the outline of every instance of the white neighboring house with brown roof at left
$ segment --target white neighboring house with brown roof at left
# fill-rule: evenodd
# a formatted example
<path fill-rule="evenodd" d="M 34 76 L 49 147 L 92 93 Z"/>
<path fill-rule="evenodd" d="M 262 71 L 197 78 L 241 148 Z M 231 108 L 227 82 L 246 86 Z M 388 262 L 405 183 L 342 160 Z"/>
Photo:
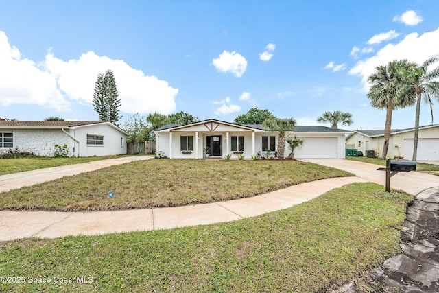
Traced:
<path fill-rule="evenodd" d="M 67 145 L 69 156 L 126 154 L 127 133 L 109 121 L 0 121 L 0 150 L 17 148 L 53 156 Z"/>

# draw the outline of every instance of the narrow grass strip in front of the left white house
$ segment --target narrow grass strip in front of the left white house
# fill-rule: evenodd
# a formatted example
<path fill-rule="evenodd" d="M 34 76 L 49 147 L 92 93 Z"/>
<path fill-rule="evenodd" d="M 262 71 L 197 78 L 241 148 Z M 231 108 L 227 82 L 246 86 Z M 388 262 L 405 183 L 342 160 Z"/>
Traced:
<path fill-rule="evenodd" d="M 0 175 L 32 171 L 49 167 L 58 167 L 78 163 L 87 163 L 104 159 L 115 159 L 120 156 L 84 156 L 69 158 L 32 157 L 18 159 L 0 159 Z"/>

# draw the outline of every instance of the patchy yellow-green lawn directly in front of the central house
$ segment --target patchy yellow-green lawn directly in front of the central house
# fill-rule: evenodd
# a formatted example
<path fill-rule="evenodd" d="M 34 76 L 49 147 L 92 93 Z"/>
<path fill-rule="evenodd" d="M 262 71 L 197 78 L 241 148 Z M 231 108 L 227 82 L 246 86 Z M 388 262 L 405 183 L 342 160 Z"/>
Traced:
<path fill-rule="evenodd" d="M 265 194 L 299 183 L 353 176 L 300 161 L 147 160 L 0 194 L 0 209 L 97 211 L 174 207 Z M 108 193 L 115 196 L 108 198 Z"/>

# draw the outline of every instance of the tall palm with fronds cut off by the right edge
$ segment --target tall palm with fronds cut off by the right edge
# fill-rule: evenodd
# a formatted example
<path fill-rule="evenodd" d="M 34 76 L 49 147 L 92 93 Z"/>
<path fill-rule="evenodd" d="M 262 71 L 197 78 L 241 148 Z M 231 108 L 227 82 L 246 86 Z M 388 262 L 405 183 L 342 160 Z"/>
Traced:
<path fill-rule="evenodd" d="M 419 116 L 422 97 L 424 95 L 425 103 L 430 105 L 431 124 L 433 124 L 433 102 L 431 102 L 431 97 L 434 97 L 434 99 L 439 101 L 439 82 L 436 80 L 439 78 L 439 67 L 436 67 L 432 71 L 428 71 L 428 67 L 438 61 L 438 57 L 433 57 L 425 60 L 423 65 L 412 67 L 408 72 L 411 83 L 407 84 L 405 89 L 403 89 L 404 91 L 407 91 L 407 93 L 412 93 L 416 96 L 412 161 L 416 161 L 416 155 L 418 152 Z"/>

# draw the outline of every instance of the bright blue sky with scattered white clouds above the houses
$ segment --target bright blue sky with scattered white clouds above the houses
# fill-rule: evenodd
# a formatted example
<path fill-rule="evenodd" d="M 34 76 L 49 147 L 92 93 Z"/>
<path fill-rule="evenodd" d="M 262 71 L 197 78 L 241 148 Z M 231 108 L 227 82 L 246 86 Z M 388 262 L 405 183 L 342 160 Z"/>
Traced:
<path fill-rule="evenodd" d="M 436 0 L 0 0 L 0 117 L 95 120 L 97 74 L 112 69 L 122 122 L 155 111 L 233 121 L 257 106 L 302 126 L 342 110 L 354 124 L 341 128 L 383 129 L 367 77 L 439 56 L 438 11 Z M 392 127 L 414 126 L 414 110 L 396 110 Z M 426 104 L 421 116 L 431 123 Z"/>

